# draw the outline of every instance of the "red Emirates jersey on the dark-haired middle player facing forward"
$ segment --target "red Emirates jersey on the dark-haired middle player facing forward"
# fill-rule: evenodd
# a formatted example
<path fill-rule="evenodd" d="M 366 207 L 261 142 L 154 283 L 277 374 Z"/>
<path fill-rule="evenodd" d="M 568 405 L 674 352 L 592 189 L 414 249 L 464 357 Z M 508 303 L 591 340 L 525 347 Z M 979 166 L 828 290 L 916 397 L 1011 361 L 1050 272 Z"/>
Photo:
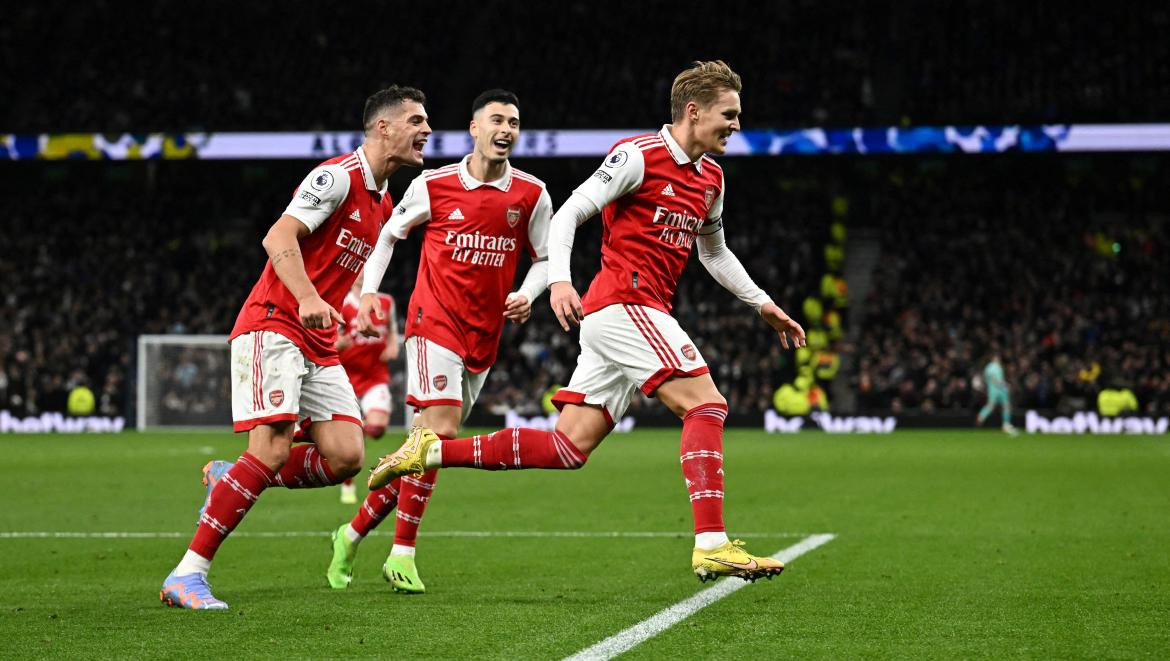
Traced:
<path fill-rule="evenodd" d="M 398 239 L 426 223 L 406 337 L 449 349 L 472 372 L 490 367 L 521 250 L 546 257 L 551 216 L 544 184 L 511 165 L 496 181 L 473 178 L 467 158 L 414 179 L 390 219 Z"/>

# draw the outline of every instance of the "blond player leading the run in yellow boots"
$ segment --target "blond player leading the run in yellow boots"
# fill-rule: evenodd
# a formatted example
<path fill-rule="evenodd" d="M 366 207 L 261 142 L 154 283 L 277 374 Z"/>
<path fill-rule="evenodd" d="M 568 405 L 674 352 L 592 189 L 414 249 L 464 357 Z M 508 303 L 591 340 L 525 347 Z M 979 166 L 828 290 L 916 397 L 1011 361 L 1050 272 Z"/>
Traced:
<path fill-rule="evenodd" d="M 549 229 L 552 309 L 567 331 L 581 326 L 581 351 L 553 432 L 503 429 L 440 440 L 417 429 L 371 473 L 371 487 L 438 467 L 579 468 L 613 428 L 634 388 L 656 397 L 682 424 L 680 461 L 695 519 L 691 566 L 701 580 L 779 573 L 784 565 L 748 553 L 723 525 L 723 421 L 718 393 L 695 343 L 670 316 L 691 246 L 707 270 L 801 346 L 804 330 L 751 281 L 723 239 L 723 153 L 739 130 L 739 76 L 722 61 L 696 62 L 670 89 L 672 124 L 618 143 L 557 211 Z M 601 270 L 584 301 L 569 271 L 573 233 L 601 211 Z"/>

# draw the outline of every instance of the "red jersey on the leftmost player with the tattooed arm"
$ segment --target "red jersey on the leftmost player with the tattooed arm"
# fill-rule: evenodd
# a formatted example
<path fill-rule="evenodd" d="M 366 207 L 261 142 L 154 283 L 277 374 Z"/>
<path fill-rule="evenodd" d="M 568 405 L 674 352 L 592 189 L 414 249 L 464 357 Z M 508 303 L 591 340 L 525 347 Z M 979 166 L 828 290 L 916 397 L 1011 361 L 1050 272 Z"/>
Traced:
<path fill-rule="evenodd" d="M 333 309 L 340 311 L 393 207 L 385 184 L 380 190 L 376 185 L 362 147 L 322 163 L 294 192 L 284 213 L 309 228 L 310 234 L 301 239 L 304 269 L 317 294 Z M 337 328 L 307 329 L 298 310 L 269 261 L 243 302 L 232 337 L 257 330 L 278 332 L 310 362 L 337 365 Z"/>

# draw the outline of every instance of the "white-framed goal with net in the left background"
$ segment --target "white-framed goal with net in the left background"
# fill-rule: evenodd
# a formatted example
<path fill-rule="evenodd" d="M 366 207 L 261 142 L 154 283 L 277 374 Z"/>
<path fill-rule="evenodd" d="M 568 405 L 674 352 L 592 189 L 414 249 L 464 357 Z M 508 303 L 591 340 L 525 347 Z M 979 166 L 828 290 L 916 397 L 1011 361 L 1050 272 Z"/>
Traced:
<path fill-rule="evenodd" d="M 232 428 L 226 335 L 138 336 L 138 429 Z"/>

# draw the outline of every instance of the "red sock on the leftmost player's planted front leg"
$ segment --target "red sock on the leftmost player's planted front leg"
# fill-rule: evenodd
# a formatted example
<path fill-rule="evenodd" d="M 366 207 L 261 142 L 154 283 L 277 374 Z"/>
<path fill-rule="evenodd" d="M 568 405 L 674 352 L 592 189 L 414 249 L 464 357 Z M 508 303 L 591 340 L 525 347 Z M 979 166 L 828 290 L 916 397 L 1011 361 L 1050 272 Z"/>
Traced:
<path fill-rule="evenodd" d="M 241 454 L 212 489 L 212 497 L 199 517 L 199 528 L 188 549 L 207 559 L 215 557 L 219 545 L 235 530 L 274 477 L 276 475 L 259 459 L 248 453 Z"/>

